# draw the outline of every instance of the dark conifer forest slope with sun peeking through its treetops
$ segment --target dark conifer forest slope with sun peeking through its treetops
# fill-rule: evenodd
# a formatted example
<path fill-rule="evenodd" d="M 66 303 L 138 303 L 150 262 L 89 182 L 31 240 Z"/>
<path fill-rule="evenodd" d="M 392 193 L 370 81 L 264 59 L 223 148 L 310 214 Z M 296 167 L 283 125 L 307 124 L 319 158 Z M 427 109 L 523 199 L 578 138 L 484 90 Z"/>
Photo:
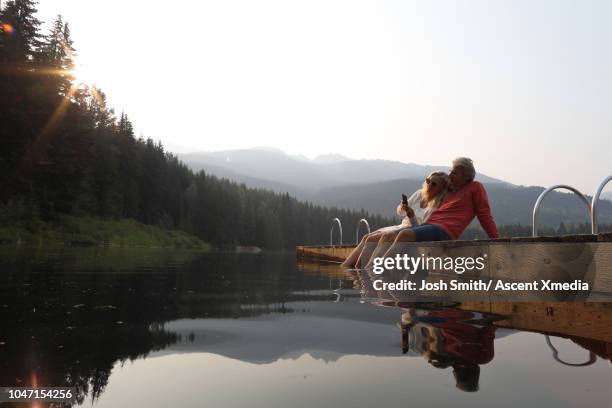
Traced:
<path fill-rule="evenodd" d="M 14 98 L 3 99 L 0 113 L 6 146 L 0 209 L 20 214 L 12 222 L 130 217 L 182 229 L 221 248 L 292 249 L 323 242 L 336 216 L 348 225 L 368 217 L 194 173 L 161 143 L 136 139 L 128 115 L 116 118 L 102 90 L 74 83 L 68 23 L 57 16 L 42 36 L 35 11 L 27 0 L 1 11 L 2 21 L 15 26 L 2 33 L 2 59 L 10 69 L 0 77 L 0 89 Z"/>

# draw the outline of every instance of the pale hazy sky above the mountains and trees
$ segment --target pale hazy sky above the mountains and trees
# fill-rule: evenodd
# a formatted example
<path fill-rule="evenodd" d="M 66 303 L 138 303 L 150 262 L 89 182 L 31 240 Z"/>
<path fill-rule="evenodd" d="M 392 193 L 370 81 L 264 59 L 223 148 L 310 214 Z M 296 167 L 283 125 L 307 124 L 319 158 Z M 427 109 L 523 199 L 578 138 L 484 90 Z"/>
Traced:
<path fill-rule="evenodd" d="M 170 149 L 459 155 L 592 194 L 612 173 L 612 2 L 42 0 Z"/>

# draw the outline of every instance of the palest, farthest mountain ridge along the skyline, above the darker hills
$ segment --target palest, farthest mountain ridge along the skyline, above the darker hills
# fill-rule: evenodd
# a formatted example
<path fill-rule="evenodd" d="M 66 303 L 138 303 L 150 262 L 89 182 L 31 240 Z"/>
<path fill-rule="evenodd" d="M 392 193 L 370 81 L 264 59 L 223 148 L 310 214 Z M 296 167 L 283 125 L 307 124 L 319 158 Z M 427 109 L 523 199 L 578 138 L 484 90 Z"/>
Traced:
<path fill-rule="evenodd" d="M 293 189 L 299 191 L 313 192 L 347 184 L 399 178 L 423 179 L 432 171 L 448 170 L 448 166 L 424 166 L 391 160 L 355 160 L 338 154 L 307 160 L 303 156 L 290 156 L 273 148 L 188 153 L 179 154 L 179 158 L 195 170 L 205 170 L 232 179 L 225 175 L 229 170 L 237 177 L 237 181 L 241 181 L 238 175 L 243 175 L 293 186 Z M 483 174 L 479 174 L 478 179 L 487 183 L 507 184 Z M 250 187 L 265 188 L 258 184 Z"/>

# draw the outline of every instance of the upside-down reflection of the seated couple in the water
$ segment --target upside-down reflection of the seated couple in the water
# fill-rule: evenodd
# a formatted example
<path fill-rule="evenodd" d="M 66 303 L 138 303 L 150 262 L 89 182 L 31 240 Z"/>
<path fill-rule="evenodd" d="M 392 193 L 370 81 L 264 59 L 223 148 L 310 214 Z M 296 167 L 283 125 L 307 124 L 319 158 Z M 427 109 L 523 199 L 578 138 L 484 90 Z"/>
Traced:
<path fill-rule="evenodd" d="M 493 359 L 495 339 L 495 326 L 478 324 L 483 319 L 477 317 L 459 309 L 407 309 L 402 314 L 402 350 L 422 355 L 436 368 L 453 367 L 457 388 L 477 391 L 480 365 Z"/>

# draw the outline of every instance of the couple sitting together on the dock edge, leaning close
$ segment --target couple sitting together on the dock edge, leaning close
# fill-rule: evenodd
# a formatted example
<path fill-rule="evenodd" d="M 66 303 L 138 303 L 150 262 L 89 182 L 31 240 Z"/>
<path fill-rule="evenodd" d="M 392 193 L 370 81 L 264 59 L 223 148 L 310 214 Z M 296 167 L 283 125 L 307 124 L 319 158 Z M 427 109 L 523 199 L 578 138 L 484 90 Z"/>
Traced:
<path fill-rule="evenodd" d="M 402 242 L 458 239 L 474 217 L 489 238 L 499 238 L 487 192 L 475 176 L 474 164 L 466 157 L 453 160 L 449 175 L 431 173 L 423 188 L 398 206 L 398 214 L 405 216 L 402 223 L 365 235 L 342 265 L 369 267 L 376 257 L 393 256 Z"/>

